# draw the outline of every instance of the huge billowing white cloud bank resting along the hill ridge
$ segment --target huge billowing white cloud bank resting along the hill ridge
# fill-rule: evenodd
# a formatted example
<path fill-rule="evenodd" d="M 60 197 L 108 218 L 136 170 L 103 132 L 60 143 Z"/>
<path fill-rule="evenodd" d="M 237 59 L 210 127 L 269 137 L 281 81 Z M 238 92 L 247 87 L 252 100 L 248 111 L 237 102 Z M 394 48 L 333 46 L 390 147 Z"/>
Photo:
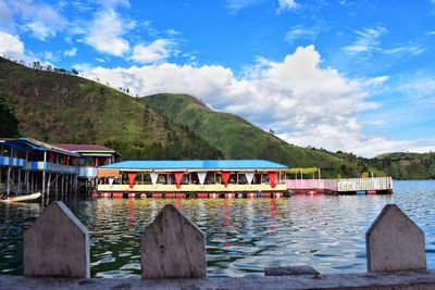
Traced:
<path fill-rule="evenodd" d="M 133 94 L 190 93 L 212 108 L 238 114 L 290 143 L 373 156 L 385 151 L 423 148 L 423 141 L 391 141 L 362 133 L 359 114 L 377 109 L 369 101 L 388 76 L 351 79 L 321 68 L 313 46 L 300 47 L 282 62 L 264 59 L 237 78 L 221 65 L 161 63 L 129 68 L 94 67 L 85 72 Z M 427 141 L 427 140 L 426 140 Z M 434 142 L 432 142 L 434 143 Z M 427 141 L 427 146 L 432 144 Z"/>

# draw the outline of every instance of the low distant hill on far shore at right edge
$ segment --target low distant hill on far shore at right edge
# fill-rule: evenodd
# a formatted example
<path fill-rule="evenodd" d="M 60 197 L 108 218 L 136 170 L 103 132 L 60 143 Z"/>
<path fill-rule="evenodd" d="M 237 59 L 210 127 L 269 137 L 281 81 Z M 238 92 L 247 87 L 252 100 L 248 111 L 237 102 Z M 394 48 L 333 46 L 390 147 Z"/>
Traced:
<path fill-rule="evenodd" d="M 369 161 L 395 179 L 435 179 L 435 153 L 387 153 Z"/>

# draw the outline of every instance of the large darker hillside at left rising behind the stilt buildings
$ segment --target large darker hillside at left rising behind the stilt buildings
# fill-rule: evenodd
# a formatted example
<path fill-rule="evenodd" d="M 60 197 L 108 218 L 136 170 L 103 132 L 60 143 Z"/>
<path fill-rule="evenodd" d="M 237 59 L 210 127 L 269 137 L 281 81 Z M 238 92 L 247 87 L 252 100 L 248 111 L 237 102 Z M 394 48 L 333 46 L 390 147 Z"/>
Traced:
<path fill-rule="evenodd" d="M 213 146 L 136 98 L 2 58 L 0 112 L 1 121 L 11 124 L 0 128 L 2 137 L 16 135 L 17 121 L 23 135 L 52 143 L 101 143 L 124 159 L 222 157 Z"/>

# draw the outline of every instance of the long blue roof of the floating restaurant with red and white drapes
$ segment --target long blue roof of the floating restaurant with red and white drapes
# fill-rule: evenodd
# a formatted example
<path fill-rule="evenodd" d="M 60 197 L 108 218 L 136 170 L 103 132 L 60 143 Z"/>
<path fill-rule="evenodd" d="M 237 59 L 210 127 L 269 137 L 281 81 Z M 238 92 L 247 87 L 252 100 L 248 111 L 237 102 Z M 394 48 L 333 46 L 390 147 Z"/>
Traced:
<path fill-rule="evenodd" d="M 113 169 L 286 169 L 288 166 L 266 160 L 161 160 L 123 161 L 100 168 Z"/>

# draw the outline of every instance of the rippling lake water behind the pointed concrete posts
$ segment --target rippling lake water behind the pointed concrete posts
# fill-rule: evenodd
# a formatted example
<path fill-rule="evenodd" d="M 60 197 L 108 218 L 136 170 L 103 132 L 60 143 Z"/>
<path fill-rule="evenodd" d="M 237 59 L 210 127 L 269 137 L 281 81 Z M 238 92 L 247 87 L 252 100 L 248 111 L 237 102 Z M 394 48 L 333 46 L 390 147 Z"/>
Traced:
<path fill-rule="evenodd" d="M 387 203 L 423 230 L 435 268 L 435 181 L 395 181 L 391 196 L 294 196 L 258 200 L 66 199 L 90 231 L 92 277 L 139 277 L 139 236 L 174 203 L 207 236 L 209 276 L 263 275 L 270 266 L 312 265 L 321 273 L 365 272 L 365 231 Z M 37 203 L 0 204 L 0 275 L 21 275 L 22 236 Z"/>

